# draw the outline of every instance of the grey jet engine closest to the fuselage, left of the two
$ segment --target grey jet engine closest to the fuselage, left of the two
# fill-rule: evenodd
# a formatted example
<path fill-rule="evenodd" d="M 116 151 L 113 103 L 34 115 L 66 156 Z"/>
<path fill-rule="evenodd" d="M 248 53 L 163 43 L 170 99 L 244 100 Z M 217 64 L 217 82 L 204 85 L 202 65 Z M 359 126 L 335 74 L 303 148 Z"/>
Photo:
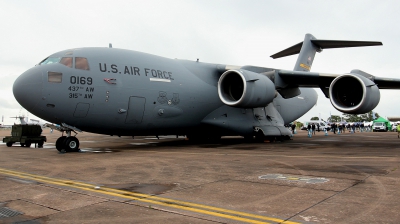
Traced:
<path fill-rule="evenodd" d="M 229 70 L 218 81 L 218 95 L 232 107 L 264 107 L 276 96 L 275 84 L 266 76 L 247 70 Z"/>

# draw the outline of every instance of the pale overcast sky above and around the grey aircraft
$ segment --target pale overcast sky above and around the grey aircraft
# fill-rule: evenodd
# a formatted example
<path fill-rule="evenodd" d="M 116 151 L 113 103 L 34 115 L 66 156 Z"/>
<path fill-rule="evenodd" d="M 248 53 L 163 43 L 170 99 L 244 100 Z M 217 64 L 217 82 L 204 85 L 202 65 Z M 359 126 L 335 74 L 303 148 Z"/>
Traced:
<path fill-rule="evenodd" d="M 0 115 L 27 115 L 15 79 L 48 55 L 77 47 L 124 48 L 202 62 L 293 69 L 297 55 L 270 55 L 318 39 L 382 41 L 383 46 L 326 49 L 313 72 L 400 78 L 400 1 L 0 1 Z M 341 115 L 318 90 L 299 120 Z M 374 111 L 400 116 L 400 90 L 381 90 Z M 29 118 L 34 118 L 29 115 Z M 3 122 L 1 122 L 3 123 Z"/>

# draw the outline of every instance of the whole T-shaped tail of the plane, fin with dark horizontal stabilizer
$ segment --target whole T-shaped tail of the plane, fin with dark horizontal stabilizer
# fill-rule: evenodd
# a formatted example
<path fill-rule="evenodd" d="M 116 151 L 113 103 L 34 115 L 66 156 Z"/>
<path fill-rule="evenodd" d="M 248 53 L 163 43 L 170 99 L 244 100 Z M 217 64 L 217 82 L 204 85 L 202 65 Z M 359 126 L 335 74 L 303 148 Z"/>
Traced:
<path fill-rule="evenodd" d="M 314 61 L 315 53 L 321 52 L 327 48 L 343 48 L 343 47 L 364 47 L 382 45 L 382 42 L 376 41 L 348 41 L 348 40 L 318 40 L 311 34 L 306 34 L 304 41 L 292 47 L 289 47 L 281 52 L 271 55 L 273 59 L 286 57 L 289 55 L 299 54 L 294 71 L 311 70 L 312 62 Z"/>

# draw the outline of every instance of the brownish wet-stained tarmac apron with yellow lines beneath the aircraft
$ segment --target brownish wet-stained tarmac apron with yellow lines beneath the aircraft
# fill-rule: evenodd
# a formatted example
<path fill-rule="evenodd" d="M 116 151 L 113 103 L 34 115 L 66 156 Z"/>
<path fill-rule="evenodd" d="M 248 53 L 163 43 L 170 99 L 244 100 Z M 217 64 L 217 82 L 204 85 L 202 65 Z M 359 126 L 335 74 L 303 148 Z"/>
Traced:
<path fill-rule="evenodd" d="M 0 137 L 10 130 L 0 131 Z M 293 140 L 79 133 L 81 152 L 0 143 L 0 223 L 400 223 L 396 132 Z"/>

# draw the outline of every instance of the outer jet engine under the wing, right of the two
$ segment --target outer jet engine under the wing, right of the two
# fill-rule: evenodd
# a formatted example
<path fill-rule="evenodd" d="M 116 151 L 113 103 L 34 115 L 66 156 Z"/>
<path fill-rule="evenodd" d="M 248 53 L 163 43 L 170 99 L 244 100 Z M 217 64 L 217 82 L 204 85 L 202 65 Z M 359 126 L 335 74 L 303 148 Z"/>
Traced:
<path fill-rule="evenodd" d="M 332 105 L 347 114 L 364 114 L 379 103 L 380 92 L 374 82 L 358 74 L 336 77 L 330 87 Z"/>

